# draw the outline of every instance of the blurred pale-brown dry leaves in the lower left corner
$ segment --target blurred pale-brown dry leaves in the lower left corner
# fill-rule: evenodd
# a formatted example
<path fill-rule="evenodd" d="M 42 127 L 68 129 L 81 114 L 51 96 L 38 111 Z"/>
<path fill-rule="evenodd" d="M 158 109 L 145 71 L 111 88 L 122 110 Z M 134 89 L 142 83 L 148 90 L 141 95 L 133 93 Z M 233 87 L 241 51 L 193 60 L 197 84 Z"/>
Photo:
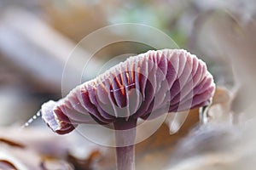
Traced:
<path fill-rule="evenodd" d="M 94 169 L 100 156 L 102 148 L 78 133 L 59 136 L 43 127 L 0 128 L 0 168 L 3 169 Z"/>

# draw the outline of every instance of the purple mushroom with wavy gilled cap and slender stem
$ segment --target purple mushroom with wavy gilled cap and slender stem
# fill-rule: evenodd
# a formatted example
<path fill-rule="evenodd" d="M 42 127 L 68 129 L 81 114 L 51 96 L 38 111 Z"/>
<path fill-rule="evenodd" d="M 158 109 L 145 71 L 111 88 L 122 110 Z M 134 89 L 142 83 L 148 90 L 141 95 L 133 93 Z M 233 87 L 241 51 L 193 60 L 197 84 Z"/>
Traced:
<path fill-rule="evenodd" d="M 207 65 L 183 49 L 150 50 L 42 105 L 44 122 L 55 133 L 80 123 L 113 123 L 118 170 L 135 168 L 137 119 L 209 105 L 215 90 Z"/>

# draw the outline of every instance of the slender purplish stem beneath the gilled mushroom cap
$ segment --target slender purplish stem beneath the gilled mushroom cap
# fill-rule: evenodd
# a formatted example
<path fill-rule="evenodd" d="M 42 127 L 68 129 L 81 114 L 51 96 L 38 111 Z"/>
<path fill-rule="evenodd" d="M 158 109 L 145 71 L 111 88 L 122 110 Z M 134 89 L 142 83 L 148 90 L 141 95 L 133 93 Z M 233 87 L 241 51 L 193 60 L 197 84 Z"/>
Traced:
<path fill-rule="evenodd" d="M 135 139 L 137 119 L 118 120 L 113 123 L 116 140 L 117 170 L 135 169 Z"/>

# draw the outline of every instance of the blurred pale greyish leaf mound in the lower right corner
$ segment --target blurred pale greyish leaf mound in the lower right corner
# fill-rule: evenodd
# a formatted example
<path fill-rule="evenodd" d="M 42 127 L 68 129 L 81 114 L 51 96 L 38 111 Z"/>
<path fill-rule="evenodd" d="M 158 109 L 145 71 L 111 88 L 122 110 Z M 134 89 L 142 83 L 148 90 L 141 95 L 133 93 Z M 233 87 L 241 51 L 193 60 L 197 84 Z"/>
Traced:
<path fill-rule="evenodd" d="M 214 123 L 198 127 L 178 144 L 166 170 L 253 170 L 254 121 L 239 127 Z"/>

